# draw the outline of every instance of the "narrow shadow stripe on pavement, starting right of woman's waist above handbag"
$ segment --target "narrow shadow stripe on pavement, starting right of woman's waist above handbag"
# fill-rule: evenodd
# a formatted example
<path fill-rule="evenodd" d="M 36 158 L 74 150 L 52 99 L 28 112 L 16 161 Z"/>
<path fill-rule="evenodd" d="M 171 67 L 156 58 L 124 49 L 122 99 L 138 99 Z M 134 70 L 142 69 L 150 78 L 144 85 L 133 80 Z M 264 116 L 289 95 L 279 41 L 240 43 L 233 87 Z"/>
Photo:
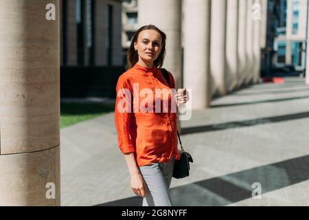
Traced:
<path fill-rule="evenodd" d="M 205 126 L 192 126 L 192 127 L 185 127 L 181 128 L 181 135 L 186 135 L 190 133 L 200 133 L 200 132 L 207 132 L 207 131 L 220 131 L 226 129 L 235 129 L 242 126 L 254 126 L 258 124 L 267 124 L 273 122 L 283 122 L 286 120 L 297 120 L 300 118 L 308 118 L 309 111 L 289 114 L 289 115 L 280 115 L 280 116 L 273 116 L 273 117 L 266 117 L 266 118 L 257 118 L 252 120 L 243 120 L 238 122 L 226 122 L 220 124 L 209 124 Z"/>

